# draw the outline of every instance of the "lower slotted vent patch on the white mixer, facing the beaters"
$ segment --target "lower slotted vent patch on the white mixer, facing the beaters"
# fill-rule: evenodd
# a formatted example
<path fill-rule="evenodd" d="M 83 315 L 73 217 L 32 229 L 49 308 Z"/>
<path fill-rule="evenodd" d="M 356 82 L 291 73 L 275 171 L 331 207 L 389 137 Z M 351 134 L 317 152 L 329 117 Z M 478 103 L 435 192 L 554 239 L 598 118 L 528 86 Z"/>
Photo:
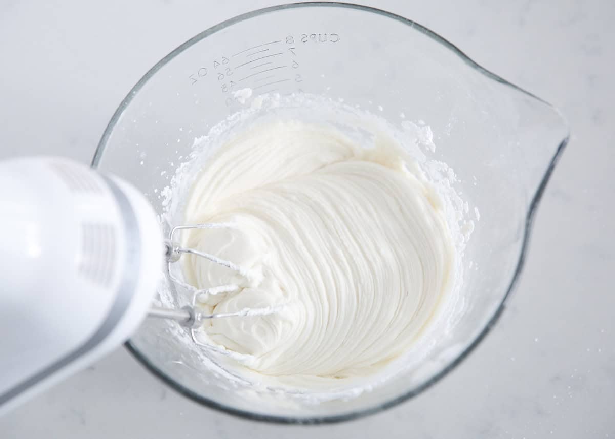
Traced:
<path fill-rule="evenodd" d="M 116 261 L 116 229 L 111 224 L 81 224 L 79 274 L 93 283 L 109 287 Z"/>

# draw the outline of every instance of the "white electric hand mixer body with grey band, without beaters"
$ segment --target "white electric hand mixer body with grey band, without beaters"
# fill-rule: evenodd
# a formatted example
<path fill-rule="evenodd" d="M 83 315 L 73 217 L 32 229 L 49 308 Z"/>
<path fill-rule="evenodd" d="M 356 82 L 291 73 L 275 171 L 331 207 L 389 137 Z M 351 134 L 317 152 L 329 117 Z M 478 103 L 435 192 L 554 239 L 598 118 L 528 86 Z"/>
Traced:
<path fill-rule="evenodd" d="M 119 346 L 163 263 L 152 208 L 53 157 L 0 162 L 0 413 Z"/>

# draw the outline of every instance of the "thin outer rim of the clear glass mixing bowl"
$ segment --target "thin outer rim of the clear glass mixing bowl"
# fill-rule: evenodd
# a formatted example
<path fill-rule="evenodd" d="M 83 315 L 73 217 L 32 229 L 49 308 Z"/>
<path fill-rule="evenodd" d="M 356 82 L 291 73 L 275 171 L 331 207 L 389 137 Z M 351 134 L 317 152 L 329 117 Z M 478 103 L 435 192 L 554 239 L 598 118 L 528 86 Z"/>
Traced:
<path fill-rule="evenodd" d="M 106 143 L 109 139 L 109 136 L 113 132 L 115 125 L 121 118 L 122 114 L 124 113 L 124 110 L 127 108 L 130 101 L 132 101 L 133 97 L 135 97 L 135 95 L 137 95 L 137 93 L 141 90 L 141 88 L 143 88 L 143 85 L 145 85 L 145 83 L 152 76 L 154 76 L 154 74 L 156 74 L 156 72 L 159 69 L 161 69 L 164 65 L 166 65 L 170 60 L 175 58 L 177 55 L 179 55 L 181 52 L 185 51 L 192 45 L 206 38 L 207 36 L 213 33 L 216 33 L 220 30 L 223 30 L 224 28 L 227 28 L 228 26 L 234 25 L 239 22 L 243 22 L 244 20 L 248 20 L 253 17 L 258 17 L 259 15 L 267 14 L 269 12 L 274 12 L 274 11 L 283 10 L 283 9 L 298 9 L 298 8 L 304 8 L 304 7 L 340 7 L 340 8 L 361 10 L 363 12 L 370 12 L 372 14 L 382 15 L 387 18 L 392 18 L 393 20 L 396 20 L 397 22 L 403 23 L 405 25 L 410 26 L 411 28 L 415 28 L 416 30 L 421 31 L 421 33 L 425 34 L 428 38 L 431 38 L 434 41 L 438 42 L 439 44 L 442 44 L 444 47 L 451 50 L 451 52 L 453 52 L 459 58 L 461 58 L 467 65 L 475 69 L 475 71 L 477 71 L 478 73 L 481 73 L 489 77 L 490 79 L 493 79 L 496 82 L 504 84 L 507 87 L 517 90 L 518 92 L 528 95 L 529 97 L 535 100 L 538 100 L 541 103 L 544 103 L 545 105 L 552 108 L 555 112 L 559 113 L 559 111 L 556 108 L 554 108 L 552 105 L 550 105 L 546 101 L 542 100 L 541 98 L 536 97 L 535 95 L 533 95 L 533 93 L 530 93 L 526 90 L 521 89 L 517 85 L 511 84 L 510 82 L 506 81 L 506 79 L 502 79 L 502 77 L 494 73 L 491 73 L 490 71 L 478 65 L 475 61 L 467 57 L 467 55 L 464 52 L 459 50 L 458 47 L 453 45 L 451 42 L 447 41 L 442 36 L 427 29 L 426 27 L 420 25 L 419 23 L 409 20 L 408 18 L 402 17 L 397 14 L 393 14 L 392 12 L 387 12 L 385 10 L 377 9 L 374 7 L 363 6 L 360 4 L 344 3 L 344 2 L 319 1 L 319 2 L 298 2 L 298 3 L 290 3 L 290 4 L 280 4 L 277 6 L 270 6 L 270 7 L 264 7 L 262 9 L 256 9 L 251 12 L 247 12 L 245 14 L 241 14 L 241 15 L 237 15 L 236 17 L 229 18 L 228 20 L 225 20 L 224 22 L 218 23 L 217 25 L 212 26 L 205 31 L 202 31 L 201 33 L 192 37 L 188 41 L 184 42 L 183 44 L 178 46 L 175 50 L 172 50 L 172 52 L 170 52 L 160 61 L 158 61 L 156 65 L 154 65 L 151 69 L 149 69 L 149 71 L 143 77 L 141 77 L 141 79 L 137 82 L 137 84 L 135 84 L 134 87 L 132 87 L 130 92 L 126 95 L 124 100 L 122 100 L 122 103 L 119 105 L 119 107 L 113 114 L 113 117 L 111 117 L 111 120 L 109 121 L 105 129 L 105 132 L 103 132 L 103 135 L 101 136 L 101 139 L 98 142 L 98 146 L 92 158 L 91 166 L 93 168 L 98 167 L 100 159 L 103 156 L 103 153 L 105 152 Z M 559 114 L 561 116 L 561 113 Z M 563 121 L 565 121 L 563 116 L 561 117 Z M 484 328 L 482 328 L 482 330 L 480 331 L 480 333 L 478 333 L 476 338 L 472 340 L 472 342 L 470 342 L 470 344 L 461 352 L 461 354 L 458 355 L 458 357 L 454 358 L 454 360 L 452 360 L 448 365 L 446 365 L 445 368 L 443 368 L 437 374 L 429 378 L 427 381 L 423 382 L 423 384 L 420 384 L 419 386 L 411 390 L 408 390 L 408 392 L 406 392 L 403 395 L 400 395 L 399 397 L 392 398 L 391 400 L 386 401 L 385 403 L 379 403 L 378 405 L 371 407 L 371 408 L 361 409 L 357 411 L 352 411 L 351 413 L 339 414 L 339 415 L 334 415 L 334 416 L 292 417 L 292 416 L 273 416 L 273 415 L 267 415 L 267 414 L 253 413 L 250 411 L 245 411 L 245 410 L 233 408 L 231 406 L 223 405 L 214 400 L 205 398 L 202 395 L 197 394 L 196 392 L 193 392 L 187 387 L 176 382 L 173 378 L 168 376 L 164 371 L 159 369 L 156 365 L 149 362 L 148 357 L 146 357 L 145 354 L 141 353 L 140 350 L 138 350 L 138 348 L 134 344 L 132 344 L 130 340 L 125 342 L 124 346 L 130 352 L 130 354 L 132 354 L 133 357 L 135 357 L 138 360 L 138 362 L 141 363 L 141 365 L 143 365 L 147 370 L 153 373 L 157 378 L 161 379 L 163 382 L 165 382 L 165 384 L 169 385 L 172 389 L 176 390 L 181 395 L 184 395 L 185 397 L 189 398 L 192 401 L 195 401 L 196 403 L 199 403 L 200 405 L 204 405 L 204 406 L 207 406 L 213 409 L 217 409 L 217 410 L 223 411 L 224 413 L 228 413 L 228 414 L 242 417 L 245 419 L 252 419 L 255 421 L 264 421 L 264 422 L 274 422 L 274 423 L 279 423 L 279 424 L 330 424 L 334 422 L 349 421 L 351 419 L 357 419 L 359 417 L 379 413 L 380 411 L 383 411 L 387 408 L 391 408 L 393 406 L 399 405 L 403 401 L 407 401 L 408 399 L 415 397 L 418 394 L 421 394 L 424 390 L 433 386 L 436 382 L 440 381 L 440 379 L 446 376 L 446 374 L 448 374 L 451 370 L 456 368 L 456 366 L 458 366 L 464 359 L 467 358 L 470 352 L 474 351 L 475 347 L 477 347 L 478 344 L 480 344 L 480 342 L 483 341 L 485 336 L 490 332 L 491 328 L 493 328 L 495 323 L 498 322 L 498 319 L 502 315 L 502 312 L 504 311 L 504 308 L 506 306 L 506 301 L 509 298 L 510 293 L 516 287 L 518 278 L 525 264 L 525 256 L 528 251 L 531 225 L 533 222 L 534 212 L 536 211 L 536 208 L 538 207 L 538 204 L 542 197 L 542 193 L 544 192 L 544 189 L 547 186 L 547 182 L 549 181 L 550 175 L 552 174 L 555 168 L 555 165 L 558 162 L 558 159 L 561 157 L 561 154 L 563 150 L 565 149 L 566 144 L 568 144 L 568 140 L 569 140 L 569 134 L 567 133 L 565 137 L 558 144 L 557 149 L 555 150 L 555 153 L 553 154 L 549 162 L 549 165 L 547 165 L 547 168 L 542 176 L 542 179 L 540 183 L 538 184 L 538 188 L 536 189 L 533 197 L 531 198 L 530 207 L 528 208 L 528 212 L 525 218 L 525 229 L 523 233 L 523 242 L 522 242 L 522 248 L 520 250 L 520 256 L 518 259 L 517 267 L 515 267 L 515 272 L 513 274 L 512 280 L 510 281 L 510 285 L 506 291 L 506 294 L 502 296 L 501 302 L 498 304 L 498 307 L 494 311 L 494 314 L 486 322 Z"/>

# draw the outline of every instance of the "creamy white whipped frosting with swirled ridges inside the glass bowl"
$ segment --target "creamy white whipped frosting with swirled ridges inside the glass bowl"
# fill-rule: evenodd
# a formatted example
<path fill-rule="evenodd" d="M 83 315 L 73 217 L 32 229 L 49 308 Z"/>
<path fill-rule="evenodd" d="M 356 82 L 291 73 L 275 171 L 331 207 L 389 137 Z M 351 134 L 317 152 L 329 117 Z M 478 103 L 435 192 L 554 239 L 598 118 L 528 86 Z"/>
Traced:
<path fill-rule="evenodd" d="M 266 376 L 367 376 L 399 357 L 433 322 L 451 288 L 455 249 L 442 200 L 394 141 L 354 143 L 325 125 L 256 125 L 205 163 L 183 243 L 242 274 L 186 255 L 208 320 L 204 340 Z M 245 312 L 244 312 L 245 314 Z"/>

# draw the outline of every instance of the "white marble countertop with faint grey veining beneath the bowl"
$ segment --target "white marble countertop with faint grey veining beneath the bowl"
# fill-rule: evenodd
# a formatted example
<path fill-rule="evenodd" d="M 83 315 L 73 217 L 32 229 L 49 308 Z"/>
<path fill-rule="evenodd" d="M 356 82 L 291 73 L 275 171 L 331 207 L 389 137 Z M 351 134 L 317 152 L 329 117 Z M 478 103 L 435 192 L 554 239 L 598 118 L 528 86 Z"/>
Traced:
<path fill-rule="evenodd" d="M 89 162 L 116 106 L 156 61 L 221 20 L 274 4 L 52 3 L 0 2 L 0 158 Z M 202 408 L 119 348 L 2 417 L 0 437 L 615 438 L 615 2 L 364 3 L 440 33 L 571 123 L 522 280 L 492 333 L 419 397 L 319 427 Z"/>

